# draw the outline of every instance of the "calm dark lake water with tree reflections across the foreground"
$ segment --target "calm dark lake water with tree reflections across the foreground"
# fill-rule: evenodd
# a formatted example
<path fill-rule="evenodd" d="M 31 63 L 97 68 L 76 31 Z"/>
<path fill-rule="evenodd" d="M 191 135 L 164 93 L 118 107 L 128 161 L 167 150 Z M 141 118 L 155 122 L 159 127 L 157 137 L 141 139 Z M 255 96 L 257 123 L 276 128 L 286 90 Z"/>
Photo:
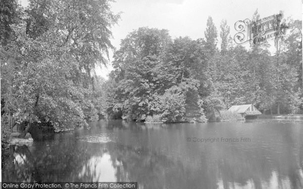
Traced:
<path fill-rule="evenodd" d="M 90 131 L 58 134 L 54 141 L 29 147 L 11 146 L 4 154 L 3 181 L 303 188 L 303 120 L 154 125 L 98 121 Z"/>

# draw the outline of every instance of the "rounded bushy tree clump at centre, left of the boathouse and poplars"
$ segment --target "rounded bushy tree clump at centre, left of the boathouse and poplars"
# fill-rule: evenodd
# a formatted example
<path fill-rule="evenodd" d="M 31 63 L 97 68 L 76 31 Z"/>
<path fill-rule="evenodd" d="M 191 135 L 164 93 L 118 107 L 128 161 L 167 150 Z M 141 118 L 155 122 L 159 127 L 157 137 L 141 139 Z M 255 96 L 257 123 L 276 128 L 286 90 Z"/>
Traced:
<path fill-rule="evenodd" d="M 125 119 L 158 114 L 163 121 L 181 121 L 189 109 L 195 111 L 192 117 L 199 118 L 203 113 L 197 105 L 199 81 L 192 72 L 198 65 L 199 48 L 188 37 L 172 41 L 167 30 L 131 32 L 114 56 L 111 76 L 117 87 L 109 109 L 122 111 Z M 188 98 L 190 91 L 195 98 Z"/>

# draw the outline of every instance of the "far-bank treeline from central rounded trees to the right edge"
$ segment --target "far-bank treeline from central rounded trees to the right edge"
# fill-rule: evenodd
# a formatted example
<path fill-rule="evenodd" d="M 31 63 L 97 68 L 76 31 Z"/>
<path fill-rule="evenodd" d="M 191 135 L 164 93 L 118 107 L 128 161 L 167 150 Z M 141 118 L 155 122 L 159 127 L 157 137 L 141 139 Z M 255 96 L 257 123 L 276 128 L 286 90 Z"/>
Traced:
<path fill-rule="evenodd" d="M 257 11 L 253 18 L 260 19 Z M 274 39 L 275 55 L 268 43 L 248 50 L 235 45 L 224 20 L 219 50 L 211 17 L 205 38 L 196 40 L 171 39 L 167 30 L 146 27 L 129 33 L 107 81 L 108 112 L 167 122 L 218 120 L 220 110 L 246 103 L 264 113 L 297 112 L 302 109 L 301 22 L 283 22 L 289 32 Z"/>

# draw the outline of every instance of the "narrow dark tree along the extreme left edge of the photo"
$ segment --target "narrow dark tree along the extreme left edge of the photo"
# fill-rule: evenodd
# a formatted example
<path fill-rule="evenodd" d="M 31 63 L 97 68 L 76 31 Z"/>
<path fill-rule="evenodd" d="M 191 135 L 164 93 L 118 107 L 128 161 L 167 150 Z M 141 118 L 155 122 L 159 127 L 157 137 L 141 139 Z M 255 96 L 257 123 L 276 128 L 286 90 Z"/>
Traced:
<path fill-rule="evenodd" d="M 13 126 L 13 79 L 20 68 L 19 48 L 12 26 L 21 22 L 18 1 L 0 2 L 0 64 L 1 64 L 1 124 L 2 148 L 6 147 Z"/>

